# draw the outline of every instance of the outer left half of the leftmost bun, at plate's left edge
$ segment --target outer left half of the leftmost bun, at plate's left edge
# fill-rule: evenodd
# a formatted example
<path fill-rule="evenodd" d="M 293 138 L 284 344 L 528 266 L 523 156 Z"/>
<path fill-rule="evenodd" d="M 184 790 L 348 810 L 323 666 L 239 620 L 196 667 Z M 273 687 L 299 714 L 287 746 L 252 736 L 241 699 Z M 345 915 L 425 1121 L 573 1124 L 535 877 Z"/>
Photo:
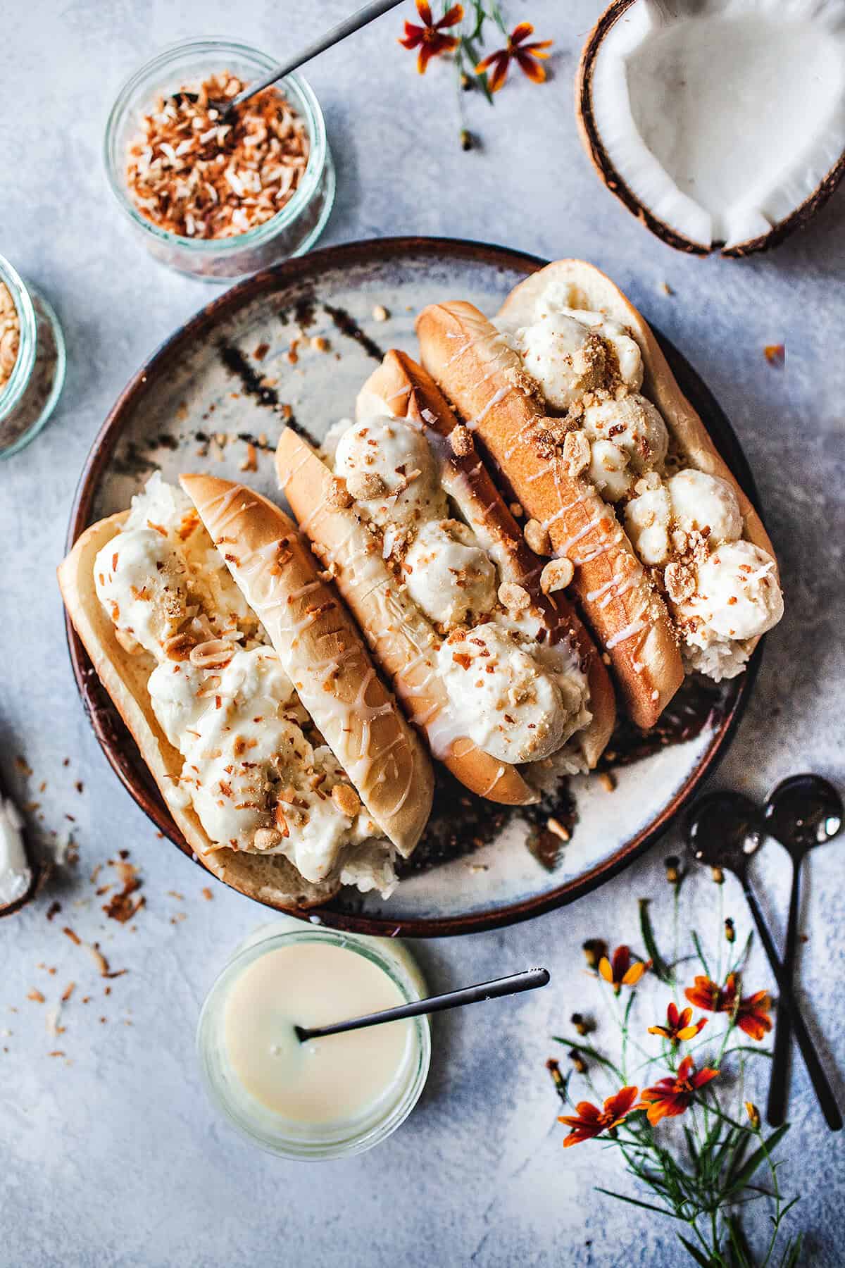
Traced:
<path fill-rule="evenodd" d="M 193 806 L 174 800 L 182 756 L 168 743 L 152 711 L 147 681 L 155 661 L 147 652 L 130 654 L 120 647 L 94 583 L 94 560 L 100 548 L 119 533 L 127 515 L 123 511 L 92 524 L 58 567 L 65 606 L 100 682 L 132 733 L 176 827 L 210 872 L 242 894 L 276 908 L 296 910 L 327 902 L 338 891 L 337 881 L 307 881 L 281 855 L 258 857 L 228 848 L 215 850 Z"/>

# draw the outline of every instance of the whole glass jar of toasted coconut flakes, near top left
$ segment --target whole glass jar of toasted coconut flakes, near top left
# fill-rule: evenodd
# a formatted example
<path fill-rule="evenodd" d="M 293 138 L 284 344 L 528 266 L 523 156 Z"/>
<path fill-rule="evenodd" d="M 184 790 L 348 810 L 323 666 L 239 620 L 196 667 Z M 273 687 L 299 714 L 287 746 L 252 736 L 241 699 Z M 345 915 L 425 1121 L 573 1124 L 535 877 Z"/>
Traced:
<path fill-rule="evenodd" d="M 109 184 L 163 264 L 228 281 L 302 255 L 334 200 L 326 123 L 305 80 L 286 76 L 223 119 L 275 62 L 247 44 L 166 48 L 122 87 L 105 132 Z"/>

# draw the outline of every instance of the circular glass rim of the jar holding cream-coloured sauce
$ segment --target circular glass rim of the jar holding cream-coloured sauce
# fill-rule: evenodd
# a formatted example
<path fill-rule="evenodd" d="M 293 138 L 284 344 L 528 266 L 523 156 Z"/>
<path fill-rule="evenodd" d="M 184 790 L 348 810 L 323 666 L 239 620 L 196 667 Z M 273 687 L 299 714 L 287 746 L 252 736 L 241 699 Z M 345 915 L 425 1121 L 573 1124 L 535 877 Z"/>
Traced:
<path fill-rule="evenodd" d="M 340 933 L 336 929 L 313 926 L 303 929 L 269 933 L 267 937 L 264 937 L 257 942 L 250 942 L 246 946 L 242 946 L 214 979 L 214 983 L 212 984 L 212 988 L 208 992 L 200 1009 L 196 1025 L 196 1050 L 200 1060 L 200 1069 L 214 1104 L 223 1112 L 227 1121 L 232 1123 L 237 1131 L 250 1139 L 253 1144 L 258 1145 L 261 1149 L 285 1158 L 293 1158 L 299 1161 L 321 1161 L 323 1159 L 347 1158 L 380 1144 L 381 1140 L 391 1135 L 397 1127 L 404 1122 L 417 1104 L 417 1101 L 419 1099 L 426 1085 L 431 1065 L 431 1023 L 427 1016 L 412 1018 L 416 1035 L 416 1051 L 413 1054 L 413 1064 L 408 1073 L 407 1084 L 403 1092 L 398 1096 L 397 1101 L 390 1104 L 380 1121 L 364 1125 L 357 1130 L 351 1127 L 348 1136 L 338 1136 L 334 1140 L 314 1141 L 313 1144 L 294 1140 L 285 1141 L 283 1136 L 274 1139 L 270 1134 L 262 1132 L 257 1126 L 253 1127 L 251 1123 L 246 1122 L 234 1111 L 234 1108 L 227 1103 L 226 1097 L 218 1088 L 209 1069 L 208 1054 L 205 1051 L 205 1038 L 209 1026 L 209 1012 L 215 1002 L 215 998 L 229 983 L 237 980 L 237 976 L 250 964 L 261 959 L 262 955 L 281 950 L 285 946 L 291 946 L 298 942 L 323 942 L 329 946 L 342 947 L 346 951 L 352 951 L 353 954 L 362 956 L 362 959 L 369 960 L 370 964 L 381 969 L 381 971 L 385 973 L 394 985 L 402 992 L 403 999 L 408 1003 L 418 999 L 419 992 L 417 990 L 412 978 L 404 971 L 402 964 L 381 952 L 378 946 L 371 945 L 371 941 L 375 942 L 376 940 L 365 940 L 360 935 Z"/>

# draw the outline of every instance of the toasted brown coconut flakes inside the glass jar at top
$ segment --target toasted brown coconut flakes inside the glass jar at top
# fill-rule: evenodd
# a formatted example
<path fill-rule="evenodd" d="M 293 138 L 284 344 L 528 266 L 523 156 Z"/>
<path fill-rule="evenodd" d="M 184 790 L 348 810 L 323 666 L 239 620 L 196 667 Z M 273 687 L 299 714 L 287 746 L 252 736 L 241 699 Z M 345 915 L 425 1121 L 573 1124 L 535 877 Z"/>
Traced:
<path fill-rule="evenodd" d="M 275 87 L 222 123 L 213 100 L 237 96 L 234 75 L 160 98 L 129 147 L 127 184 L 141 214 L 181 237 L 227 238 L 272 219 L 308 166 L 304 120 Z"/>

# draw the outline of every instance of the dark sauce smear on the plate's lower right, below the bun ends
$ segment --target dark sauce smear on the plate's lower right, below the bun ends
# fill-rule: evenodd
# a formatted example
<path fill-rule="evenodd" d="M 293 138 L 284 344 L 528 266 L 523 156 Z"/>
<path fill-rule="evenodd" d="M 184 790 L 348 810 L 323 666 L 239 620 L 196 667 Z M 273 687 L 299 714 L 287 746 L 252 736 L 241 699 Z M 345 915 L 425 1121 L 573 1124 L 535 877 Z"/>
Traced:
<path fill-rule="evenodd" d="M 726 685 L 698 676 L 687 677 L 651 730 L 641 730 L 627 718 L 618 720 L 598 771 L 630 766 L 669 744 L 694 739 L 704 727 L 718 723 L 727 699 Z M 614 795 L 611 791 L 607 794 Z M 547 871 L 554 871 L 566 850 L 565 838 L 571 839 L 578 824 L 578 800 L 571 781 L 562 779 L 536 805 L 514 808 L 485 801 L 441 767 L 437 771 L 428 827 L 414 853 L 400 864 L 398 871 L 407 876 L 473 855 L 493 842 L 513 819 L 518 819 L 528 829 L 527 850 Z M 549 828 L 552 820 L 554 829 Z"/>

